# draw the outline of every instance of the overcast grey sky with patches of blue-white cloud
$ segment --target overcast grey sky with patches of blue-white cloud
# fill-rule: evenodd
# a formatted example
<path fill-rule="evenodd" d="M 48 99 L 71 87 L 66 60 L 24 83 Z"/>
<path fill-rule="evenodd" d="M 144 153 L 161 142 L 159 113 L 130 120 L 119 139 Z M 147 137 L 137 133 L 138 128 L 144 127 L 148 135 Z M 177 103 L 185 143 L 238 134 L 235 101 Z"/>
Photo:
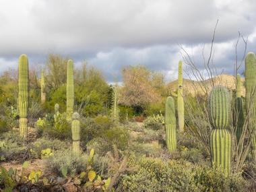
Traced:
<path fill-rule="evenodd" d="M 238 32 L 256 52 L 255 10 L 255 0 L 0 0 L 0 73 L 17 68 L 22 53 L 30 65 L 58 53 L 76 67 L 88 61 L 108 82 L 121 80 L 121 69 L 137 63 L 175 79 L 179 44 L 193 51 L 200 67 L 217 20 L 214 65 L 232 73 Z M 241 41 L 239 57 L 243 49 Z"/>

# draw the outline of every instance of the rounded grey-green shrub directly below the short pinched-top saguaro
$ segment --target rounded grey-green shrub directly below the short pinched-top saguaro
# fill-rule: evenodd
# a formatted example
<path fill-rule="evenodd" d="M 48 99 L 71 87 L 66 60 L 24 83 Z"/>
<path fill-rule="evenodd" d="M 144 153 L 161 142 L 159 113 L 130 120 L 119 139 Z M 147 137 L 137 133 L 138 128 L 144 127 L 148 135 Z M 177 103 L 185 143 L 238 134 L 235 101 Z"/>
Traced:
<path fill-rule="evenodd" d="M 46 159 L 46 168 L 59 174 L 61 176 L 61 170 L 67 168 L 67 173 L 79 173 L 86 170 L 88 164 L 88 156 L 86 154 L 76 154 L 71 150 L 59 150 L 56 151 L 54 156 Z"/>

